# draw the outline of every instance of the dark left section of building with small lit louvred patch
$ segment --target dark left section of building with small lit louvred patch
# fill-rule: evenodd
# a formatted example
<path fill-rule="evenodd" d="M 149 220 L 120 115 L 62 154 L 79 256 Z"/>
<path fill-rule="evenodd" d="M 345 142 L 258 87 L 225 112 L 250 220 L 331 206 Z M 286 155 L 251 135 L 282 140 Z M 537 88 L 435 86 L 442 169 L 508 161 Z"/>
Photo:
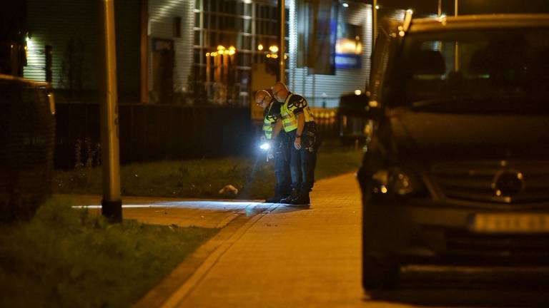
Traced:
<path fill-rule="evenodd" d="M 96 101 L 99 67 L 99 1 L 26 0 L 27 65 L 24 77 L 46 80 L 46 46 L 57 101 Z M 114 1 L 119 99 L 139 101 L 139 2 Z"/>

